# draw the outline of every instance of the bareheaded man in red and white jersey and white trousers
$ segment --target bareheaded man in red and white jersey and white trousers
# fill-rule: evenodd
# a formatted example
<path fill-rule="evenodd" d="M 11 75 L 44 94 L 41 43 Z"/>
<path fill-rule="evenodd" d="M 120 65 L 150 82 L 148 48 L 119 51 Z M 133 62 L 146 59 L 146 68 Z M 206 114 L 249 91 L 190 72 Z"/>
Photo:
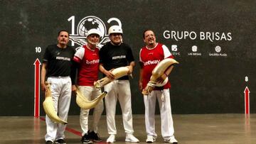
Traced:
<path fill-rule="evenodd" d="M 165 58 L 174 58 L 171 52 L 161 43 L 156 43 L 156 37 L 151 30 L 144 31 L 143 34 L 144 46 L 139 52 L 139 61 L 141 65 L 139 74 L 139 89 L 145 89 L 146 84 L 149 82 L 152 70 L 154 67 Z M 171 69 L 173 66 L 169 67 Z M 166 70 L 164 77 L 160 77 L 158 82 L 163 82 L 164 78 L 168 76 L 170 70 Z M 155 87 L 153 91 L 144 95 L 145 106 L 145 124 L 146 124 L 146 143 L 154 143 L 157 134 L 155 132 L 155 107 L 156 98 L 159 101 L 159 109 L 161 113 L 161 135 L 167 143 L 178 143 L 174 137 L 174 123 L 171 116 L 171 100 L 169 89 L 171 88 L 170 82 L 167 82 L 163 87 Z"/>

